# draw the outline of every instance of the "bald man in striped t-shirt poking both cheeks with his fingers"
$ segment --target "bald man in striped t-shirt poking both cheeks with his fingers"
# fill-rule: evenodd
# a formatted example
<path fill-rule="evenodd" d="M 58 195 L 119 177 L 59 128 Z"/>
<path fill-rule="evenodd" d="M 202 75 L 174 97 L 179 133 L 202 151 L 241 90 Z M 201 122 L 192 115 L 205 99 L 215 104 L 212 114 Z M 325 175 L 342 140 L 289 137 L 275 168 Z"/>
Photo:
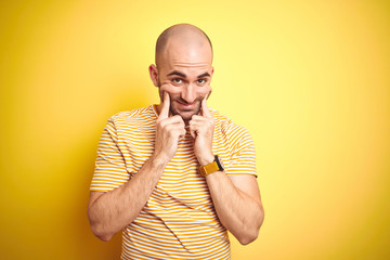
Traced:
<path fill-rule="evenodd" d="M 122 231 L 122 259 L 230 259 L 230 231 L 255 240 L 264 212 L 253 142 L 207 106 L 212 47 L 199 28 L 166 29 L 148 70 L 160 104 L 108 119 L 91 183 L 92 232 Z"/>

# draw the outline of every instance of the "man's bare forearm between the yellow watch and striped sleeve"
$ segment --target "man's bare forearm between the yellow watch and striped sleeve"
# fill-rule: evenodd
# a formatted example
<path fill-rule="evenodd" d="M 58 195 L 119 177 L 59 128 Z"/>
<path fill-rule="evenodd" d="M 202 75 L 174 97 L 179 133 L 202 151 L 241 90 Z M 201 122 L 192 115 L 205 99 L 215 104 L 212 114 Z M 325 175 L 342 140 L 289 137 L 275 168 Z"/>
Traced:
<path fill-rule="evenodd" d="M 264 218 L 260 196 L 250 197 L 221 171 L 208 174 L 206 181 L 221 223 L 244 245 L 256 239 Z"/>

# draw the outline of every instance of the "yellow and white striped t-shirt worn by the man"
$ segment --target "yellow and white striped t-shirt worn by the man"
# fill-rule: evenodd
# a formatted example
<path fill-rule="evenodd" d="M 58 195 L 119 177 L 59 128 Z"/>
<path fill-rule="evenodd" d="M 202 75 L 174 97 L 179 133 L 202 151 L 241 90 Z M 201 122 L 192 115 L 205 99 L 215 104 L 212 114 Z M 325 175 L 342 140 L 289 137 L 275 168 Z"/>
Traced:
<path fill-rule="evenodd" d="M 249 132 L 210 109 L 212 152 L 226 174 L 255 174 Z M 107 121 L 98 148 L 91 191 L 112 191 L 136 174 L 154 151 L 156 107 L 120 112 Z M 226 229 L 219 221 L 198 161 L 193 138 L 179 142 L 148 202 L 122 232 L 122 259 L 230 259 Z"/>

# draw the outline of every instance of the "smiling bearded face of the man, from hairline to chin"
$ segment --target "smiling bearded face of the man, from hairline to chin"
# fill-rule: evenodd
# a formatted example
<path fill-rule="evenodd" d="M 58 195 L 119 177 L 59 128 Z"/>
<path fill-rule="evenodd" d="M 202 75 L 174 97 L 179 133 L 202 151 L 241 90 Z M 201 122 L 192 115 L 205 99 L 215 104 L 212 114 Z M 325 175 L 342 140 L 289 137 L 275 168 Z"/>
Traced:
<path fill-rule="evenodd" d="M 199 114 L 203 99 L 211 93 L 211 55 L 207 44 L 187 49 L 171 46 L 158 67 L 159 96 L 162 101 L 164 93 L 168 92 L 170 112 L 184 121 Z"/>

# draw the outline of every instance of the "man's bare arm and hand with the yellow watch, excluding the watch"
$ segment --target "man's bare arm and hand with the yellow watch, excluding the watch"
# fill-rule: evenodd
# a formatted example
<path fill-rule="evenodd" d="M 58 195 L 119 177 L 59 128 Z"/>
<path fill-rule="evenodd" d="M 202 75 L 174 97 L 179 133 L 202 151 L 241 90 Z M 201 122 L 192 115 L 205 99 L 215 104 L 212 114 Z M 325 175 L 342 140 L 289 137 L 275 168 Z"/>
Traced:
<path fill-rule="evenodd" d="M 213 118 L 207 108 L 206 99 L 202 103 L 202 115 L 194 115 L 190 121 L 190 132 L 195 139 L 194 153 L 199 164 L 213 161 Z M 246 245 L 255 240 L 264 218 L 256 177 L 227 177 L 225 172 L 217 171 L 208 174 L 206 182 L 221 223 L 239 243 Z"/>

